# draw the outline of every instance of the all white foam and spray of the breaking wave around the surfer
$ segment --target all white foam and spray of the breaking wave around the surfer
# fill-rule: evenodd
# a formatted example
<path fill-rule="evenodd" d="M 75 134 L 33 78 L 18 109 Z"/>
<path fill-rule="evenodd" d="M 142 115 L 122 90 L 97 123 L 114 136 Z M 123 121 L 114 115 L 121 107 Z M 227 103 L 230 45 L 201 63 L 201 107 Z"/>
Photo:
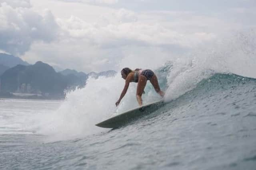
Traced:
<path fill-rule="evenodd" d="M 128 55 L 119 63 L 120 69 L 114 77 L 89 78 L 85 88 L 67 94 L 59 109 L 33 117 L 38 121 L 36 128 L 32 127 L 36 129 L 36 133 L 49 135 L 53 140 L 73 139 L 106 131 L 95 124 L 138 107 L 136 83 L 130 83 L 120 105 L 115 106 L 125 83 L 120 75 L 123 67 L 154 70 L 160 87 L 166 92 L 166 102 L 192 90 L 201 80 L 214 73 L 256 77 L 256 31 L 252 29 L 215 39 L 214 42 L 180 56 L 168 56 L 157 51 L 158 56 L 156 53 L 145 53 L 145 56 L 140 53 L 139 58 Z M 144 104 L 161 99 L 149 81 L 145 92 L 142 96 Z"/>

